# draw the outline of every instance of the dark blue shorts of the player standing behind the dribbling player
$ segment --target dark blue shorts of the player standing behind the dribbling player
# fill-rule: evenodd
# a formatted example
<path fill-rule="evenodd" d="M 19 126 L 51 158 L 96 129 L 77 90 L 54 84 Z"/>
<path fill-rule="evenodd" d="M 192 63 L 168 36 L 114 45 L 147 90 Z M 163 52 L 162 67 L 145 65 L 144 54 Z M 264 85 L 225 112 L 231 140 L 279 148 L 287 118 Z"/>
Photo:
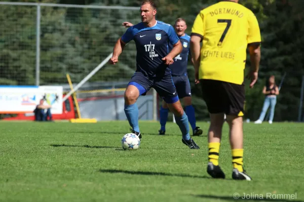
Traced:
<path fill-rule="evenodd" d="M 180 99 L 191 96 L 191 87 L 188 76 L 172 76 L 172 79 Z"/>

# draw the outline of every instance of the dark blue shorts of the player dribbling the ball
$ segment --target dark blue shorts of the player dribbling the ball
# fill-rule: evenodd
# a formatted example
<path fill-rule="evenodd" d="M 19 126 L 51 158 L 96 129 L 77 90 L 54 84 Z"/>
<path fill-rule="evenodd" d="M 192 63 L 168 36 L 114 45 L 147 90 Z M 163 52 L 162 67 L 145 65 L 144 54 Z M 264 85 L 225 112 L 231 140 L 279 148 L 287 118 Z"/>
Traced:
<path fill-rule="evenodd" d="M 135 72 L 128 85 L 136 86 L 139 95 L 145 95 L 150 88 L 154 88 L 168 104 L 179 100 L 171 74 L 163 77 L 148 77 L 141 72 Z"/>

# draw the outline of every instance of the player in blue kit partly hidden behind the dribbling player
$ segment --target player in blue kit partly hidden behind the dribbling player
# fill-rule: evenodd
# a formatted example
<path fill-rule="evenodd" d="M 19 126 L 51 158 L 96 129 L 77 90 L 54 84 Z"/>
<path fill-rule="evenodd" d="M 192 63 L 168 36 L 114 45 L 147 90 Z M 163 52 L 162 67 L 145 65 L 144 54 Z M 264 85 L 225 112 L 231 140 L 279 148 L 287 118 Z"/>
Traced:
<path fill-rule="evenodd" d="M 124 22 L 124 27 L 133 26 L 130 22 Z M 187 63 L 188 63 L 188 54 L 190 54 L 190 36 L 188 36 L 185 31 L 187 29 L 186 21 L 183 18 L 178 18 L 174 24 L 175 32 L 179 37 L 180 42 L 182 43 L 182 52 L 176 56 L 173 60 L 174 63 L 169 65 L 171 70 L 173 83 L 177 90 L 177 95 L 180 99 L 183 100 L 185 106 L 185 112 L 188 116 L 189 123 L 193 130 L 193 135 L 198 136 L 203 133 L 203 130 L 200 127 L 196 126 L 196 118 L 194 108 L 192 106 L 191 98 L 191 86 L 187 76 Z M 169 44 L 169 50 L 172 49 L 172 45 Z M 159 130 L 160 135 L 164 135 L 166 132 L 166 123 L 168 120 L 168 105 L 163 100 L 162 107 L 160 110 L 160 123 L 161 129 Z"/>

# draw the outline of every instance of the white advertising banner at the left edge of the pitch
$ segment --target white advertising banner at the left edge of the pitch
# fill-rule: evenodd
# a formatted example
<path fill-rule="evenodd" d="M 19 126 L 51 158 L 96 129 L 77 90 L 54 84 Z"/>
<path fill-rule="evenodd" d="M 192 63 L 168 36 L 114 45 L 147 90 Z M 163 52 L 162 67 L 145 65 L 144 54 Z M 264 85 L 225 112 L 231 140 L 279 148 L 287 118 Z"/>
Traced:
<path fill-rule="evenodd" d="M 31 113 L 44 99 L 52 114 L 62 114 L 62 86 L 0 85 L 0 114 Z"/>

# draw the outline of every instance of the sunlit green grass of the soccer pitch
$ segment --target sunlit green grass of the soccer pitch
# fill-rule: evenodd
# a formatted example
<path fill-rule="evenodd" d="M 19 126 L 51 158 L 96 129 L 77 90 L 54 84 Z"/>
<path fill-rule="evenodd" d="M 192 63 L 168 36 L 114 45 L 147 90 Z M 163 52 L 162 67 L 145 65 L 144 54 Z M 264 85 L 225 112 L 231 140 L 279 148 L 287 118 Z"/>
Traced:
<path fill-rule="evenodd" d="M 158 123 L 140 122 L 140 149 L 125 151 L 127 122 L 0 122 L 0 200 L 235 201 L 234 193 L 245 193 L 248 201 L 304 201 L 303 124 L 244 123 L 244 164 L 253 181 L 232 180 L 227 124 L 219 157 L 226 179 L 210 178 L 208 124 L 198 126 L 201 149 L 182 144 L 173 123 L 159 136 Z"/>

